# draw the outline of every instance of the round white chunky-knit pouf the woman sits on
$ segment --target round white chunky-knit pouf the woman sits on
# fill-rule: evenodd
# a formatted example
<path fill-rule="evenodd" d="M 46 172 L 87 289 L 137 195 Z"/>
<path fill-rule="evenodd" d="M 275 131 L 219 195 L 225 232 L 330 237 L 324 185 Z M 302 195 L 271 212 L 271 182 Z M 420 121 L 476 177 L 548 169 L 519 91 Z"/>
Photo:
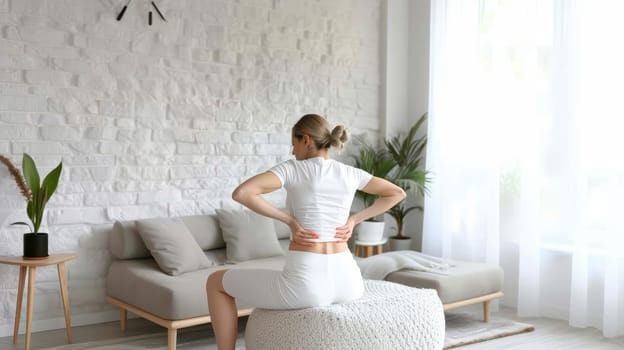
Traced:
<path fill-rule="evenodd" d="M 246 349 L 442 349 L 444 311 L 435 290 L 372 280 L 364 287 L 364 296 L 347 304 L 255 309 Z"/>

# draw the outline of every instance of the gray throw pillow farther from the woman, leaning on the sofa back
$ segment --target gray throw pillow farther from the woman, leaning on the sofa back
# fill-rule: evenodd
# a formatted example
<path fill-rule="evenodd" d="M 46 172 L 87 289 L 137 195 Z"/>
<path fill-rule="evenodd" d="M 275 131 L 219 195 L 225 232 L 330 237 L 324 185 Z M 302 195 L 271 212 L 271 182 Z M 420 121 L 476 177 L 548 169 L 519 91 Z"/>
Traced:
<path fill-rule="evenodd" d="M 180 219 L 139 220 L 137 230 L 160 269 L 172 276 L 212 266 Z"/>

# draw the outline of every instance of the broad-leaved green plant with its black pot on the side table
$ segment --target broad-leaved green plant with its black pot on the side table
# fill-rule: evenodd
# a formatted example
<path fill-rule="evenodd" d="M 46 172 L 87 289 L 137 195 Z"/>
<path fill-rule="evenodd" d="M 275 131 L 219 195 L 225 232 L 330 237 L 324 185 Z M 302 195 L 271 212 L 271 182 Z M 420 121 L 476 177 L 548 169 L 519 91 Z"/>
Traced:
<path fill-rule="evenodd" d="M 0 155 L 0 162 L 7 166 L 27 201 L 26 214 L 32 226 L 22 221 L 11 224 L 24 225 L 30 229 L 29 233 L 24 234 L 24 258 L 45 258 L 48 256 L 48 234 L 39 232 L 39 228 L 43 222 L 45 206 L 56 191 L 63 163 L 59 163 L 41 182 L 37 166 L 27 153 L 24 153 L 22 159 L 23 176 L 8 158 Z"/>

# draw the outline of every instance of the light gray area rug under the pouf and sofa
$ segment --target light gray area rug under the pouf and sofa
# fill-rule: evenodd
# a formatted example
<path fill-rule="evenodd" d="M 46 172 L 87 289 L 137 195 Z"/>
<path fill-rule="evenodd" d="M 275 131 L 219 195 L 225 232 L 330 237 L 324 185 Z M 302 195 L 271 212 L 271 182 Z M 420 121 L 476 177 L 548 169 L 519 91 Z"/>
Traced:
<path fill-rule="evenodd" d="M 245 349 L 244 329 L 246 317 L 239 322 L 239 335 L 236 350 Z M 444 349 L 452 349 L 463 345 L 474 344 L 514 334 L 533 331 L 533 326 L 526 323 L 492 317 L 485 323 L 470 313 L 446 314 L 446 337 Z M 166 350 L 167 332 L 139 335 L 134 337 L 115 338 L 79 344 L 69 344 L 43 350 Z M 217 350 L 215 338 L 209 325 L 197 326 L 178 331 L 179 350 Z"/>

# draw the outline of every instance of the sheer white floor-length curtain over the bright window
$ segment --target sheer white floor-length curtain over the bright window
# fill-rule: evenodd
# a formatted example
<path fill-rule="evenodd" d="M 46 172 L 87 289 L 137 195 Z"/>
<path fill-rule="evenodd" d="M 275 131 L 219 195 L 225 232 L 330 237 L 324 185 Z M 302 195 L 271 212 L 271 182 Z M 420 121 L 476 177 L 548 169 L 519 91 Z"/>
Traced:
<path fill-rule="evenodd" d="M 423 251 L 624 335 L 624 1 L 431 2 Z"/>

